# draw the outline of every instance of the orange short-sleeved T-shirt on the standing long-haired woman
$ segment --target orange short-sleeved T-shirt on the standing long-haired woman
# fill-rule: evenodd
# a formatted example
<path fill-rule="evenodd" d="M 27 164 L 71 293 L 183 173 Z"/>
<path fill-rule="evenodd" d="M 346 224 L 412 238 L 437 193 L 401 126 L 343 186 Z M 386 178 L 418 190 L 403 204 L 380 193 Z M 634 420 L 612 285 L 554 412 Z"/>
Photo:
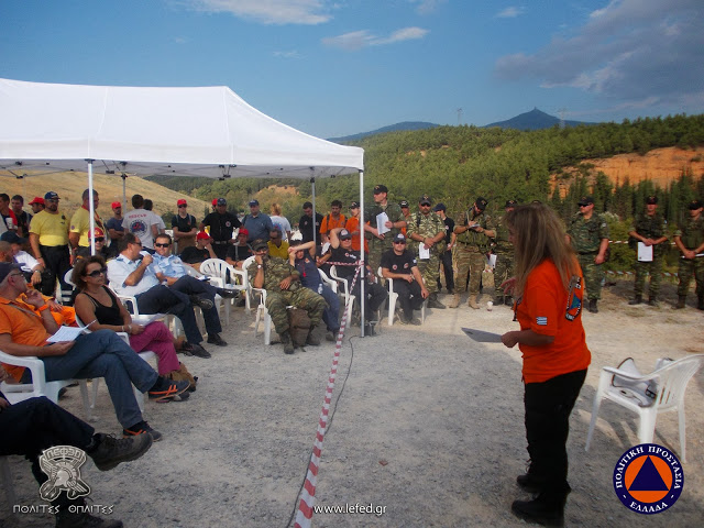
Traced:
<path fill-rule="evenodd" d="M 516 314 L 520 329 L 552 336 L 554 341 L 543 346 L 518 345 L 524 354 L 526 383 L 546 382 L 590 365 L 592 355 L 582 327 L 584 279 L 582 272 L 579 273 L 580 286 L 570 293 L 564 290 L 560 273 L 550 258 L 538 264 L 528 276 Z"/>

